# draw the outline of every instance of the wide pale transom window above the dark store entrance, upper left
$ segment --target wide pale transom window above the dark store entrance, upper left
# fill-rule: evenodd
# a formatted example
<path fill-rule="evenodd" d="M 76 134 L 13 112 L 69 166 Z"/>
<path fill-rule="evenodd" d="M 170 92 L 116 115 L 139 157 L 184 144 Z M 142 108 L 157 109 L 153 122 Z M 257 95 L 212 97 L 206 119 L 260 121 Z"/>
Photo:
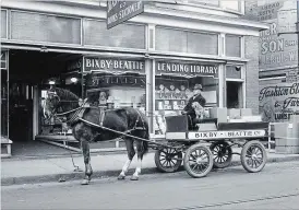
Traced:
<path fill-rule="evenodd" d="M 81 44 L 81 21 L 64 16 L 12 11 L 12 39 Z"/>

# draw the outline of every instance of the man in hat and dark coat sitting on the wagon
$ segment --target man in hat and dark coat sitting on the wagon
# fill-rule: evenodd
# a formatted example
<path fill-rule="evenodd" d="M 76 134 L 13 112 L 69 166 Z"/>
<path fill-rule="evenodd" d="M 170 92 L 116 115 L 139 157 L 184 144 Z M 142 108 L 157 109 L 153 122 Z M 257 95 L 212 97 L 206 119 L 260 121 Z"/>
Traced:
<path fill-rule="evenodd" d="M 182 110 L 183 115 L 189 116 L 189 128 L 194 128 L 194 125 L 204 117 L 205 98 L 202 96 L 202 85 L 195 84 L 193 88 L 193 96 L 191 96 Z"/>

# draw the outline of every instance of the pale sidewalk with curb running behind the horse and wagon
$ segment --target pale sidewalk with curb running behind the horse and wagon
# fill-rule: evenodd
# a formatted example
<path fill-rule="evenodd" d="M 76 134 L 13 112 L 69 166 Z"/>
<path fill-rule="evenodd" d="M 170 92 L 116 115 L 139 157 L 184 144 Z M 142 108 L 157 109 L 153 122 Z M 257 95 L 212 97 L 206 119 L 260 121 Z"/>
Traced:
<path fill-rule="evenodd" d="M 240 148 L 234 149 L 234 152 L 240 152 Z M 267 163 L 299 161 L 299 154 L 267 154 Z M 84 170 L 82 155 L 73 156 L 74 164 Z M 127 154 L 106 154 L 92 155 L 91 163 L 94 171 L 93 178 L 117 177 L 127 161 Z M 240 156 L 232 155 L 231 165 L 240 165 Z M 128 175 L 133 173 L 136 167 L 136 158 L 132 161 Z M 150 152 L 144 156 L 142 174 L 158 173 L 154 162 L 154 153 Z M 38 160 L 2 160 L 1 161 L 1 184 L 32 184 L 44 182 L 59 182 L 82 179 L 84 172 L 74 172 L 71 156 L 48 158 Z"/>

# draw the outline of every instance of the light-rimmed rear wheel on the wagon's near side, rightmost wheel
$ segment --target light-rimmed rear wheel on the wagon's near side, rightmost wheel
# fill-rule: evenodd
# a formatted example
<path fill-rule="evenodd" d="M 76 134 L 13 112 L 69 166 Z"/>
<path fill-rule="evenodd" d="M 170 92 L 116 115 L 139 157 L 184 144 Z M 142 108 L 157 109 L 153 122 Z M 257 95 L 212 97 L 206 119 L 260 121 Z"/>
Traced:
<path fill-rule="evenodd" d="M 249 141 L 241 151 L 241 164 L 250 173 L 256 173 L 264 168 L 267 161 L 265 147 L 260 141 Z"/>

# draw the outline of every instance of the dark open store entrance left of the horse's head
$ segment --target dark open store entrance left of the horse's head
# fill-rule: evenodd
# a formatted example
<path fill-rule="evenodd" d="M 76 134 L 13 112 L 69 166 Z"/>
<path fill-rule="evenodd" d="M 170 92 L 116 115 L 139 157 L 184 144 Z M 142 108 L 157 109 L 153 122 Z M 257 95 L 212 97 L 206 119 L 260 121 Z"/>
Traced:
<path fill-rule="evenodd" d="M 45 78 L 59 75 L 65 69 L 65 58 L 70 55 L 31 50 L 9 51 L 9 137 L 13 142 L 34 139 L 34 112 L 40 112 L 39 104 L 34 109 L 35 88 Z"/>

